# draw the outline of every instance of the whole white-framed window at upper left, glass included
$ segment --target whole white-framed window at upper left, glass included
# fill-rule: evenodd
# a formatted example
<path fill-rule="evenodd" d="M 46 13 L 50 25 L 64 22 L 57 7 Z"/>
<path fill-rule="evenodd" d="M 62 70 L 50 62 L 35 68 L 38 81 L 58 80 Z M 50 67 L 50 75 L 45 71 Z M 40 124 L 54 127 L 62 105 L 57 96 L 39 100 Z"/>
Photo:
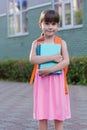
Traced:
<path fill-rule="evenodd" d="M 27 0 L 8 0 L 8 33 L 21 35 L 28 32 Z"/>

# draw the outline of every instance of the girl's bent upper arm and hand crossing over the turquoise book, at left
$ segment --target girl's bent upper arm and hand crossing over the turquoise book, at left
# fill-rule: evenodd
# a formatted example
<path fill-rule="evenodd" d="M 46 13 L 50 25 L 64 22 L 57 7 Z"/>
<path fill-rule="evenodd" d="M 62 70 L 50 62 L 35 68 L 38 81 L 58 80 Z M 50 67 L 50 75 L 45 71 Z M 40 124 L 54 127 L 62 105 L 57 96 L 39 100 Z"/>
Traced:
<path fill-rule="evenodd" d="M 44 62 L 49 62 L 49 61 L 56 61 L 59 62 L 61 60 L 61 56 L 59 55 L 54 55 L 54 56 L 38 56 L 36 54 L 36 41 L 32 43 L 32 48 L 29 56 L 29 61 L 32 64 L 41 64 Z"/>

